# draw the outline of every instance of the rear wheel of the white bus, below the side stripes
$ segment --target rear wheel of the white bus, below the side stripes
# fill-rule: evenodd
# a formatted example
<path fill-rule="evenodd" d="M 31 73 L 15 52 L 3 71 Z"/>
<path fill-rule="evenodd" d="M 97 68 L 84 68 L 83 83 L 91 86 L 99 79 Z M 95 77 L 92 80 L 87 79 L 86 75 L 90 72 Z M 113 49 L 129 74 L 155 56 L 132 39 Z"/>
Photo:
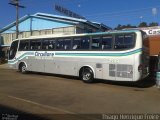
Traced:
<path fill-rule="evenodd" d="M 89 67 L 83 67 L 80 70 L 80 78 L 85 83 L 92 83 L 94 81 L 92 69 L 90 69 Z"/>

